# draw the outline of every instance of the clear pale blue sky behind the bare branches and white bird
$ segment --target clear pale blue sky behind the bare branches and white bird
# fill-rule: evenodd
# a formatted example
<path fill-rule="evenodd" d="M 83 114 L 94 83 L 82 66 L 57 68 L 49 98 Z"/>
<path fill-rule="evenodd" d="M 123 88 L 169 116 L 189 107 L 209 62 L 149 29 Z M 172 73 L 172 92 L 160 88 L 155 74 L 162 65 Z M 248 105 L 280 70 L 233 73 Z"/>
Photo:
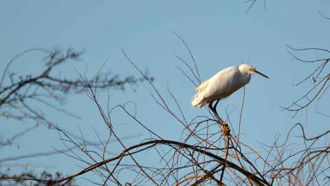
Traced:
<path fill-rule="evenodd" d="M 330 17 L 329 6 L 330 1 L 266 1 L 266 14 L 263 1 L 256 1 L 245 14 L 250 3 L 244 1 L 2 1 L 0 65 L 4 69 L 14 56 L 30 48 L 52 49 L 58 46 L 63 50 L 86 50 L 82 63 L 69 63 L 56 69 L 61 76 L 78 78 L 74 66 L 81 73 L 88 67 L 87 76 L 93 77 L 107 59 L 104 73 L 119 74 L 122 78 L 129 75 L 140 77 L 122 54 L 124 50 L 138 68 L 148 69 L 155 78 L 153 85 L 173 112 L 180 114 L 175 101 L 168 94 L 167 86 L 187 121 L 200 115 L 210 117 L 205 108 L 197 109 L 190 105 L 192 96 L 196 94 L 195 85 L 176 68 L 182 68 L 191 76 L 175 54 L 189 65 L 192 65 L 192 59 L 181 40 L 173 34 L 175 32 L 190 48 L 202 81 L 224 68 L 248 63 L 249 60 L 251 65 L 257 65 L 257 70 L 270 77 L 252 76 L 245 89 L 241 123 L 241 133 L 245 136 L 241 140 L 260 149 L 261 145 L 256 141 L 271 145 L 274 136 L 280 134 L 284 141 L 287 132 L 296 123 L 302 123 L 309 136 L 316 136 L 329 128 L 329 117 L 314 113 L 315 103 L 308 107 L 307 114 L 303 110 L 294 118 L 293 112 L 282 111 L 279 107 L 290 105 L 311 89 L 311 81 L 298 87 L 292 86 L 292 83 L 302 81 L 318 66 L 293 60 L 286 45 L 298 49 L 329 50 L 329 20 L 319 14 Z M 305 60 L 329 58 L 326 52 L 294 54 Z M 37 74 L 43 70 L 44 56 L 41 52 L 26 54 L 17 59 L 10 70 L 18 74 Z M 329 67 L 325 72 L 329 72 Z M 137 91 L 133 92 L 133 89 Z M 124 91 L 111 90 L 110 107 L 132 101 L 137 107 L 137 119 L 146 127 L 163 138 L 180 141 L 184 127 L 155 103 L 150 94 L 155 95 L 151 85 L 144 82 L 133 89 L 127 86 Z M 217 107 L 222 117 L 225 117 L 226 108 L 228 112 L 234 107 L 239 108 L 230 116 L 234 130 L 238 127 L 242 96 L 243 89 L 221 101 Z M 107 92 L 100 92 L 99 99 L 104 103 L 102 106 L 107 107 Z M 330 115 L 328 105 L 329 94 L 326 92 L 318 103 L 318 112 Z M 104 132 L 105 125 L 96 105 L 85 94 L 69 99 L 63 108 L 80 116 L 80 120 L 49 108 L 41 109 L 51 121 L 78 135 L 79 127 L 91 141 L 98 141 L 91 126 L 102 138 L 107 138 L 108 133 Z M 128 104 L 127 109 L 134 112 L 132 104 Z M 3 118 L 0 118 L 0 122 L 1 134 L 6 137 L 35 124 Z M 146 130 L 120 109 L 113 111 L 113 122 L 126 123 L 115 125 L 119 136 L 140 135 L 134 140 L 125 141 L 127 146 L 150 138 Z M 12 145 L 5 149 L 8 153 L 0 153 L 0 158 L 47 152 L 53 150 L 52 147 L 64 149 L 58 138 L 57 132 L 40 126 L 17 139 L 15 143 L 19 149 Z M 292 138 L 292 143 L 301 141 Z M 36 145 L 32 147 L 32 144 Z M 118 152 L 120 150 L 113 149 L 114 154 Z M 67 156 L 52 156 L 54 162 L 49 159 L 26 158 L 19 163 L 47 165 L 65 174 L 74 174 L 80 169 L 76 167 L 79 162 L 73 162 Z"/>

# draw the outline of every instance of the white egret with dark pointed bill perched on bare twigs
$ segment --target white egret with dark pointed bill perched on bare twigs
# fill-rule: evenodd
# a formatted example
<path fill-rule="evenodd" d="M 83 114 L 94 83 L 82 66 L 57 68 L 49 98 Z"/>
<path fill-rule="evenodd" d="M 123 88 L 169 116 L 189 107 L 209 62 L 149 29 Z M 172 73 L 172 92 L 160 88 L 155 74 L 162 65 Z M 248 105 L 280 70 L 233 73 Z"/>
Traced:
<path fill-rule="evenodd" d="M 204 81 L 196 88 L 198 93 L 195 95 L 195 99 L 191 105 L 194 107 L 203 107 L 210 103 L 208 106 L 214 113 L 217 119 L 223 123 L 219 115 L 217 114 L 217 104 L 221 99 L 225 99 L 232 93 L 239 90 L 244 85 L 248 84 L 251 79 L 251 74 L 259 74 L 261 76 L 270 79 L 265 74 L 256 71 L 252 65 L 242 64 L 239 67 L 232 66 L 221 70 L 208 81 Z M 213 101 L 217 101 L 212 107 Z"/>

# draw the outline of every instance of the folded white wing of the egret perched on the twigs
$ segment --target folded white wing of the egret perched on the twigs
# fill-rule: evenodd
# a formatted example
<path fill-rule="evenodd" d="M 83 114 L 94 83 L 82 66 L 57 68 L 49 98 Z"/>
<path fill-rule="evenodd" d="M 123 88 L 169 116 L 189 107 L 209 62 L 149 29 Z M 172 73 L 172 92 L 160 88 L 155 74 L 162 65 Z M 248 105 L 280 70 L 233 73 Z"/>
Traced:
<path fill-rule="evenodd" d="M 221 70 L 209 80 L 210 83 L 206 87 L 204 97 L 208 98 L 224 92 L 231 92 L 232 87 L 239 81 L 239 78 L 240 73 L 237 67 Z"/>

